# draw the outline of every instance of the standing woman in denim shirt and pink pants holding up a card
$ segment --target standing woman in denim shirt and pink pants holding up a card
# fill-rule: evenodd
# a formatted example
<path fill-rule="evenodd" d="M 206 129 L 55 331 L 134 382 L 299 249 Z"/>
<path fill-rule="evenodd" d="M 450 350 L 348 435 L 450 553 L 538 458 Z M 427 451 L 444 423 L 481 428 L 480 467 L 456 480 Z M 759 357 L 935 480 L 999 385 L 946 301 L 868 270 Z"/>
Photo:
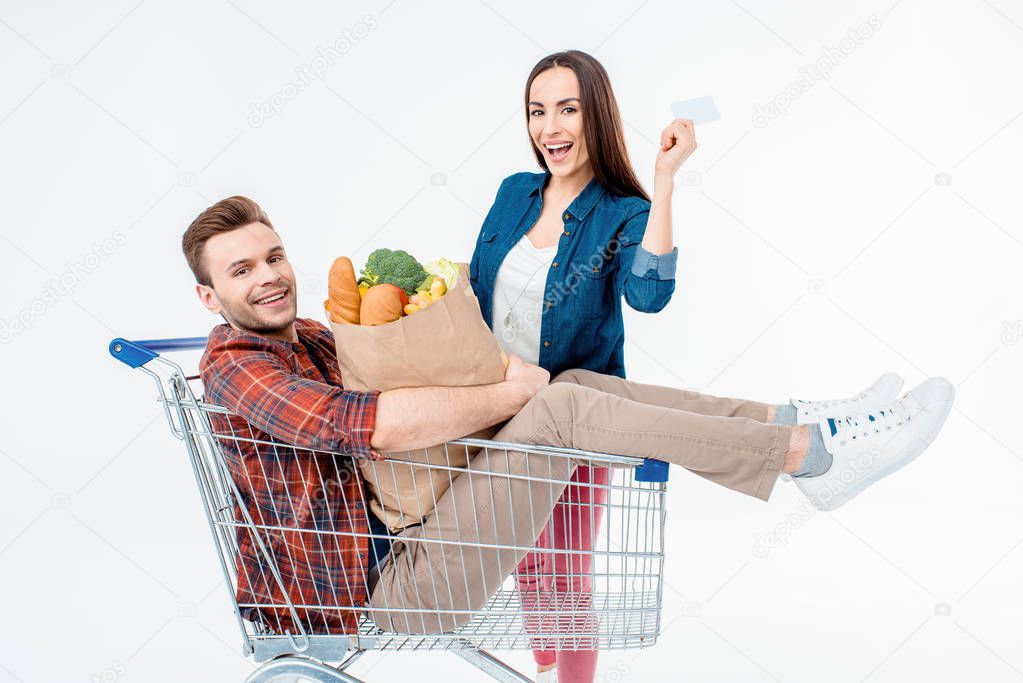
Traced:
<path fill-rule="evenodd" d="M 483 317 L 505 352 L 551 376 L 584 368 L 624 377 L 622 298 L 656 313 L 675 288 L 671 193 L 697 146 L 693 123 L 676 120 L 661 133 L 652 202 L 629 163 L 608 74 L 590 55 L 559 52 L 533 67 L 526 121 L 543 172 L 505 178 L 484 220 L 470 266 Z M 604 467 L 577 469 L 538 551 L 517 572 L 527 610 L 559 609 L 559 594 L 576 597 L 572 608 L 588 607 L 577 596 L 591 590 L 592 555 L 539 549 L 592 550 L 608 477 Z M 529 631 L 542 632 L 535 622 L 528 620 Z M 596 650 L 557 652 L 534 642 L 539 672 L 557 666 L 560 683 L 593 680 Z"/>

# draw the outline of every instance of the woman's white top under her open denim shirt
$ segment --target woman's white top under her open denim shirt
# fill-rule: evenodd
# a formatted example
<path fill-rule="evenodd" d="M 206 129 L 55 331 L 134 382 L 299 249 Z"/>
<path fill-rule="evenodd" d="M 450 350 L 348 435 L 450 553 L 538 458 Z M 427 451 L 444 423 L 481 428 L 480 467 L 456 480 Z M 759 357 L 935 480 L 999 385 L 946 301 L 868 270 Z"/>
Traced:
<path fill-rule="evenodd" d="M 534 365 L 540 360 L 543 289 L 555 254 L 558 244 L 537 248 L 523 235 L 504 257 L 494 281 L 494 336 L 504 353 Z"/>

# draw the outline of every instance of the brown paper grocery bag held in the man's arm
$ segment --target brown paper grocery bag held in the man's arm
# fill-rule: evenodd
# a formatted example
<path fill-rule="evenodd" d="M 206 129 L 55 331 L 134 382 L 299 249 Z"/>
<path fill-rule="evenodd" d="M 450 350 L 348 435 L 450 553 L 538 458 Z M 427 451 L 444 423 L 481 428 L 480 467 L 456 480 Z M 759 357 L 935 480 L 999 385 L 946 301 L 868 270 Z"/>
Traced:
<path fill-rule="evenodd" d="M 408 386 L 472 386 L 504 378 L 504 354 L 480 313 L 469 283 L 469 266 L 458 264 L 458 281 L 426 310 L 385 325 L 329 322 L 345 389 L 359 392 Z M 466 435 L 489 439 L 497 425 Z M 388 458 L 464 467 L 479 449 L 443 444 L 392 451 Z M 370 509 L 391 531 L 418 523 L 448 490 L 457 471 L 360 460 L 369 486 Z"/>

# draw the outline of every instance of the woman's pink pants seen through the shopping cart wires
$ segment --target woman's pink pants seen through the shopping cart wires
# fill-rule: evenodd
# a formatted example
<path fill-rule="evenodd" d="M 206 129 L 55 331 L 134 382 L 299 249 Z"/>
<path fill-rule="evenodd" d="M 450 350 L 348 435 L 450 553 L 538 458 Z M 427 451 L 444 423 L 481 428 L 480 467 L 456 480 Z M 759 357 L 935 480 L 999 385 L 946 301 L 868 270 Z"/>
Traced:
<path fill-rule="evenodd" d="M 526 631 L 533 639 L 539 666 L 558 664 L 559 683 L 591 683 L 597 650 L 554 650 L 544 634 L 576 634 L 580 644 L 595 634 L 590 572 L 593 555 L 558 550 L 591 551 L 608 500 L 607 467 L 579 467 L 554 507 L 550 521 L 516 571 Z M 553 552 L 552 552 L 553 551 Z"/>

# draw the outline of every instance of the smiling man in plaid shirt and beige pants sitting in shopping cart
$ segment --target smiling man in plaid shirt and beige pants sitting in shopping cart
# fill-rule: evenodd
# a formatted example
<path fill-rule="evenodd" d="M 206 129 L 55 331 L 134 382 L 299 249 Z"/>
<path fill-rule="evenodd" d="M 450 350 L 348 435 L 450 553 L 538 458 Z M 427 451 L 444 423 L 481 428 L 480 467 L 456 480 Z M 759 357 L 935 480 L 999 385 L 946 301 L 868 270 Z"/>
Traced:
<path fill-rule="evenodd" d="M 183 249 L 201 302 L 226 321 L 199 367 L 205 400 L 231 413 L 211 422 L 251 517 L 238 533 L 238 601 L 280 605 L 286 591 L 297 609 L 247 614 L 277 632 L 296 616 L 313 632 L 349 632 L 361 611 L 389 631 L 457 628 L 519 564 L 578 465 L 481 452 L 419 526 L 389 538 L 352 458 L 500 425 L 498 442 L 653 458 L 762 500 L 787 472 L 830 510 L 920 455 L 953 397 L 932 377 L 899 398 L 901 380 L 887 374 L 849 399 L 768 405 L 586 370 L 551 379 L 514 356 L 494 384 L 353 392 L 330 331 L 297 317 L 295 273 L 256 202 L 210 207 Z"/>

